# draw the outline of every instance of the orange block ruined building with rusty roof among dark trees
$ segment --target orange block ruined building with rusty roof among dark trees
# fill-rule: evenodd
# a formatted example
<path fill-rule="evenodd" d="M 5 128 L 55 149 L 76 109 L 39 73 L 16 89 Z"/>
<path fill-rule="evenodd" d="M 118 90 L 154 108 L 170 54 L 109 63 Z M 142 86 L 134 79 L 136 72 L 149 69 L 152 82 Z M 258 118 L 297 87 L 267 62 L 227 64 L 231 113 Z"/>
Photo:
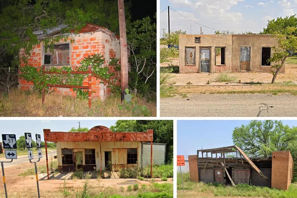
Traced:
<path fill-rule="evenodd" d="M 47 35 L 44 35 L 42 31 L 35 31 L 38 39 L 42 41 L 42 38 L 47 36 L 61 35 L 62 28 L 57 27 L 49 31 Z M 71 42 L 71 40 L 73 42 Z M 34 67 L 40 67 L 45 65 L 45 70 L 55 67 L 61 68 L 64 65 L 72 67 L 74 69 L 77 66 L 81 66 L 80 62 L 88 55 L 101 54 L 105 58 L 103 67 L 107 67 L 111 58 L 118 58 L 120 60 L 120 41 L 119 36 L 115 35 L 106 28 L 98 25 L 87 24 L 78 33 L 70 34 L 67 41 L 60 40 L 54 45 L 54 50 L 49 48 L 45 51 L 45 46 L 41 42 L 40 45 L 33 46 L 33 50 L 28 59 L 28 65 Z M 22 56 L 23 51 L 21 51 Z M 120 61 L 119 61 L 120 64 Z M 25 62 L 21 62 L 21 67 L 25 66 Z M 115 68 L 110 66 L 110 72 L 115 72 Z M 120 79 L 119 72 L 115 72 L 110 80 L 115 78 Z M 103 83 L 102 83 L 103 82 Z M 114 82 L 120 85 L 119 80 Z M 88 78 L 83 81 L 83 86 L 88 86 Z M 32 89 L 33 82 L 27 82 L 24 79 L 19 79 L 19 89 Z M 76 96 L 76 92 L 69 88 L 55 88 L 57 94 Z M 105 99 L 111 94 L 111 88 L 108 87 L 108 83 L 96 79 L 92 76 L 92 98 Z"/>

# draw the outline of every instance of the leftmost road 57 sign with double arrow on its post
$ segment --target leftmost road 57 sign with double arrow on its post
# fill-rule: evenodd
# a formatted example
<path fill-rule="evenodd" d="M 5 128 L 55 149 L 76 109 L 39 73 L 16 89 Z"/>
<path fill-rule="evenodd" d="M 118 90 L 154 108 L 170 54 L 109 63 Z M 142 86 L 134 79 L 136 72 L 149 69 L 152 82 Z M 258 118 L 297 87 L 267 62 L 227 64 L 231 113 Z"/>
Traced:
<path fill-rule="evenodd" d="M 4 162 L 1 161 L 4 191 L 5 191 L 5 197 L 7 198 L 7 190 L 6 190 L 3 163 L 10 163 L 10 162 L 12 162 L 13 159 L 17 159 L 16 150 L 12 150 L 12 149 L 17 148 L 17 146 L 16 146 L 16 136 L 15 136 L 15 134 L 2 134 L 2 141 L 3 141 L 3 148 L 5 149 L 5 158 L 6 159 L 11 159 L 10 161 L 4 161 Z"/>

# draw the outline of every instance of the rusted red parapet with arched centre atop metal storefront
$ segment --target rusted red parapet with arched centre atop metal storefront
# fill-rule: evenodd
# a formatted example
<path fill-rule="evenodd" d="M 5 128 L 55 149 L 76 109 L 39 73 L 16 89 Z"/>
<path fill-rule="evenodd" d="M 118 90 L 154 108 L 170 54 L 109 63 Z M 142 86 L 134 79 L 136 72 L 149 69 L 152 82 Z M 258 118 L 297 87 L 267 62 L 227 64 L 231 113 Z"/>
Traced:
<path fill-rule="evenodd" d="M 150 142 L 153 140 L 153 130 L 147 132 L 112 132 L 108 127 L 95 126 L 87 133 L 78 132 L 51 132 L 43 129 L 44 140 L 47 142 Z"/>

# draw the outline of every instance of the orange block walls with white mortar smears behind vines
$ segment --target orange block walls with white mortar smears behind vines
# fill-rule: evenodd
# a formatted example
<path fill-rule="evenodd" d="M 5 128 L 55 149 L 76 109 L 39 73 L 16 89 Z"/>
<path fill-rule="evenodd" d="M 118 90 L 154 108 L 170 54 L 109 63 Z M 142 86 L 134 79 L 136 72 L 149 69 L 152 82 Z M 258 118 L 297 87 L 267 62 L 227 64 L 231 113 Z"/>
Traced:
<path fill-rule="evenodd" d="M 88 55 L 93 54 L 101 54 L 105 58 L 104 67 L 108 66 L 111 58 L 118 58 L 120 59 L 120 44 L 119 40 L 115 40 L 110 35 L 103 33 L 103 32 L 95 32 L 92 35 L 90 33 L 88 34 L 82 34 L 82 35 L 71 35 L 67 42 L 64 42 L 61 40 L 59 44 L 62 43 L 69 43 L 71 39 L 74 39 L 74 43 L 70 43 L 70 58 L 67 57 L 67 62 L 69 62 L 69 66 L 72 68 L 75 68 L 76 66 L 81 66 L 80 62 L 87 57 Z M 58 44 L 58 43 L 57 43 Z M 31 52 L 30 58 L 28 60 L 28 65 L 34 66 L 34 67 L 40 67 L 43 62 L 42 58 L 42 49 L 43 44 L 37 45 L 33 47 L 33 50 Z M 21 56 L 22 56 L 21 51 Z M 58 55 L 59 62 L 60 56 Z M 56 62 L 56 57 L 53 56 L 53 62 Z M 120 61 L 119 61 L 120 64 Z M 22 61 L 21 66 L 25 66 L 25 63 Z M 61 68 L 62 66 L 55 66 L 57 68 Z M 50 67 L 46 67 L 50 68 Z M 110 72 L 115 72 L 115 68 L 110 67 Z M 118 78 L 116 84 L 120 85 L 119 80 L 121 78 L 121 75 L 119 72 L 116 72 L 115 76 L 111 78 L 110 80 L 114 80 L 115 78 Z M 86 78 L 83 81 L 83 85 L 88 86 L 88 78 Z M 32 89 L 33 83 L 27 82 L 23 79 L 19 79 L 19 89 Z M 100 98 L 105 99 L 107 96 L 111 95 L 111 88 L 108 87 L 108 84 L 104 81 L 101 81 L 99 79 L 96 79 L 95 77 L 92 77 L 92 98 Z M 73 91 L 73 89 L 68 88 L 58 88 L 56 89 L 56 93 L 59 95 L 66 95 L 66 96 L 76 96 L 76 92 Z"/>

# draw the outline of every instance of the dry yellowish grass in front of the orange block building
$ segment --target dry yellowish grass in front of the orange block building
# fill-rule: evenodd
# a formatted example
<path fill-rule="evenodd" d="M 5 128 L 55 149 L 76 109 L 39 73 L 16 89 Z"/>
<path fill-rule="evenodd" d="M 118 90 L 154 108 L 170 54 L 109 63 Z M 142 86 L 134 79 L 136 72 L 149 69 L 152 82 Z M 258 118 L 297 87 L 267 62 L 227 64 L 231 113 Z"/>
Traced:
<path fill-rule="evenodd" d="M 77 99 L 69 96 L 60 96 L 55 92 L 49 94 L 42 105 L 41 95 L 36 92 L 12 90 L 9 96 L 0 95 L 0 116 L 7 117 L 88 117 L 88 116 L 112 116 L 130 117 L 131 110 L 120 110 L 120 96 L 109 96 L 105 101 L 92 99 L 92 109 L 88 107 L 88 100 Z M 133 98 L 138 105 L 145 105 L 152 116 L 156 116 L 156 103 L 147 102 L 143 98 Z"/>

